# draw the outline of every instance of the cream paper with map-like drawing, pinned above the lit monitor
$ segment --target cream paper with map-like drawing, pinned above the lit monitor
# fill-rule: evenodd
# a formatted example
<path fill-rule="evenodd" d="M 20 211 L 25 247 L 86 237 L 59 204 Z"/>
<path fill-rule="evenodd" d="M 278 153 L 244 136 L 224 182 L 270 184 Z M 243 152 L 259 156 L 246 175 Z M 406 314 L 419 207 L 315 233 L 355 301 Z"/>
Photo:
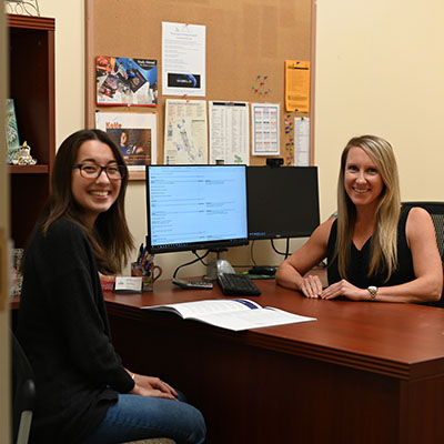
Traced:
<path fill-rule="evenodd" d="M 208 163 L 206 139 L 206 101 L 167 99 L 163 163 Z"/>

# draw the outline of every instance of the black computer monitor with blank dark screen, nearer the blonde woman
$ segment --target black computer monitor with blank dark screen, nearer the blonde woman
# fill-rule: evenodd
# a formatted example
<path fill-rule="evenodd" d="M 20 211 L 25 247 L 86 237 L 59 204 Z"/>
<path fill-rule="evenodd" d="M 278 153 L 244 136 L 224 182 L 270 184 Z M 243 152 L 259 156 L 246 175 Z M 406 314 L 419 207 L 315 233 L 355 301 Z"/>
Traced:
<path fill-rule="evenodd" d="M 249 239 L 310 236 L 320 223 L 316 167 L 249 167 Z"/>

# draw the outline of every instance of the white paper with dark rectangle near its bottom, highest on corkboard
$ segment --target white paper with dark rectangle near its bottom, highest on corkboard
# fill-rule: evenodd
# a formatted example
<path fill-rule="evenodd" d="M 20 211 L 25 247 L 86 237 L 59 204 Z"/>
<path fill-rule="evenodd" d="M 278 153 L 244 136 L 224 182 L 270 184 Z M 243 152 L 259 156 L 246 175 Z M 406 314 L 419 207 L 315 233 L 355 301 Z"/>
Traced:
<path fill-rule="evenodd" d="M 162 22 L 163 95 L 205 95 L 205 27 Z"/>

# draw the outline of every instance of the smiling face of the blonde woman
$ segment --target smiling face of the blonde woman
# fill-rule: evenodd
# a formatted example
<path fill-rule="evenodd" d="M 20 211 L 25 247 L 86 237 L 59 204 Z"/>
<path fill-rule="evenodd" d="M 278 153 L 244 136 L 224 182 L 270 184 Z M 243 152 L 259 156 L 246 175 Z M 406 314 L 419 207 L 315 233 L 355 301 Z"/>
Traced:
<path fill-rule="evenodd" d="M 349 150 L 344 186 L 351 201 L 356 205 L 374 205 L 376 210 L 384 182 L 376 162 L 360 147 Z"/>

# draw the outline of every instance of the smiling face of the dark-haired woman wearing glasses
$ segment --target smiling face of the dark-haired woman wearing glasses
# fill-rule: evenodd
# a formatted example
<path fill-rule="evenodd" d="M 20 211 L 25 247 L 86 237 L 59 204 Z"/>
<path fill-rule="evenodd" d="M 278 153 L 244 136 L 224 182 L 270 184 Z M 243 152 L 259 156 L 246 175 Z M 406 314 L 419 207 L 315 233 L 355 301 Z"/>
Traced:
<path fill-rule="evenodd" d="M 117 165 L 110 147 L 98 140 L 88 140 L 79 148 L 75 163 Z M 102 171 L 97 179 L 87 179 L 79 169 L 72 170 L 71 190 L 75 202 L 83 208 L 88 223 L 94 224 L 98 215 L 108 211 L 119 196 L 121 180 L 109 180 Z"/>

